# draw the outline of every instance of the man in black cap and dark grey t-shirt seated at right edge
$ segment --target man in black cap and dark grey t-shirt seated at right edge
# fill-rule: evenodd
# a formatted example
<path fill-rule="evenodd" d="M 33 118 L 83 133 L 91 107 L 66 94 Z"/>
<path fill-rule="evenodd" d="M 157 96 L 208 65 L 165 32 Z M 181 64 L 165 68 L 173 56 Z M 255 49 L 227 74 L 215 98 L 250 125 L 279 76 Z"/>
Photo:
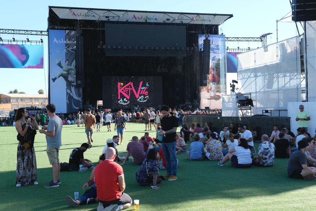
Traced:
<path fill-rule="evenodd" d="M 308 144 L 306 139 L 298 142 L 298 150 L 293 152 L 288 163 L 288 176 L 295 179 L 316 180 L 316 168 L 307 166 L 307 159 L 304 152 Z"/>

